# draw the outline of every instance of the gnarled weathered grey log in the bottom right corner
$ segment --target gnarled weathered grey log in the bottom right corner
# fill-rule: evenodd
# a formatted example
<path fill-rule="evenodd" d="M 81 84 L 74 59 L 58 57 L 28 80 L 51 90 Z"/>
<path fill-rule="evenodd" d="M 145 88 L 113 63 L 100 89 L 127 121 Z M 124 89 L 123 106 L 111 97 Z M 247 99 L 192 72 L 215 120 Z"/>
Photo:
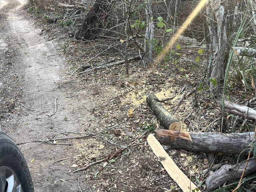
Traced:
<path fill-rule="evenodd" d="M 237 165 L 223 165 L 219 170 L 212 173 L 206 179 L 207 191 L 213 191 L 219 186 L 223 185 L 226 181 L 239 179 L 243 173 L 245 162 L 238 163 Z M 249 159 L 244 176 L 249 175 L 256 171 L 256 159 Z"/>

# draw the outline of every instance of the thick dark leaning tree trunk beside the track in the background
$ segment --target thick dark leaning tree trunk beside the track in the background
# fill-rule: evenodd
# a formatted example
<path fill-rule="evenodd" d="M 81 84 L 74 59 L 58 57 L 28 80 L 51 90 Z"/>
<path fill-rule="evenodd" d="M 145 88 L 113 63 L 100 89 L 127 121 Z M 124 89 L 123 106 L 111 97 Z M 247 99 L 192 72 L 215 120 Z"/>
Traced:
<path fill-rule="evenodd" d="M 77 40 L 93 40 L 107 22 L 112 9 L 112 0 L 96 0 L 87 13 L 79 31 L 75 34 Z"/>

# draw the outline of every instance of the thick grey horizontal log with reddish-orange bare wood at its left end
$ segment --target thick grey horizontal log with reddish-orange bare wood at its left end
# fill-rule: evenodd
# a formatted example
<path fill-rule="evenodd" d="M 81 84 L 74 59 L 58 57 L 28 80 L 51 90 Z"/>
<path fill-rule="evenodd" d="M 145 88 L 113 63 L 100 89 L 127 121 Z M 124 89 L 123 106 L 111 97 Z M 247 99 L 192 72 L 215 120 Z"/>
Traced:
<path fill-rule="evenodd" d="M 188 133 L 156 130 L 158 141 L 172 148 L 191 151 L 248 153 L 254 132 L 250 133 Z"/>

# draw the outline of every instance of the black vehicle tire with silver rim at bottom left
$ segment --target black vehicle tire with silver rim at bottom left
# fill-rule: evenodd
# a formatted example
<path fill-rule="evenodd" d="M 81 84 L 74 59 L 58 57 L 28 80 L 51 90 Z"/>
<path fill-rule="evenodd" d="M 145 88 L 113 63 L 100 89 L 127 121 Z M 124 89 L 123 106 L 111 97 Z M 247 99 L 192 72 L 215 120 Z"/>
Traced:
<path fill-rule="evenodd" d="M 32 178 L 18 146 L 0 131 L 0 192 L 34 192 Z"/>

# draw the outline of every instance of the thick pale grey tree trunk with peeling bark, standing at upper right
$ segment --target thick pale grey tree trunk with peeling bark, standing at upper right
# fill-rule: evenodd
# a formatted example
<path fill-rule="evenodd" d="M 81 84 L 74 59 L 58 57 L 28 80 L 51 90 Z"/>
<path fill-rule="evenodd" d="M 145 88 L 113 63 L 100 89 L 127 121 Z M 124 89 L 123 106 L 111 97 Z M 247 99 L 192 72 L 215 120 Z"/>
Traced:
<path fill-rule="evenodd" d="M 206 21 L 210 32 L 211 49 L 212 49 L 212 66 L 211 62 L 208 67 L 210 76 L 210 89 L 220 85 L 220 80 L 224 79 L 224 70 L 229 54 L 228 39 L 235 26 L 232 26 L 235 15 L 234 1 L 207 0 L 206 2 Z M 232 41 L 232 39 L 230 39 Z M 229 42 L 232 43 L 232 42 Z M 212 67 L 212 69 L 211 69 Z M 219 86 L 216 88 L 216 96 L 219 95 Z"/>

